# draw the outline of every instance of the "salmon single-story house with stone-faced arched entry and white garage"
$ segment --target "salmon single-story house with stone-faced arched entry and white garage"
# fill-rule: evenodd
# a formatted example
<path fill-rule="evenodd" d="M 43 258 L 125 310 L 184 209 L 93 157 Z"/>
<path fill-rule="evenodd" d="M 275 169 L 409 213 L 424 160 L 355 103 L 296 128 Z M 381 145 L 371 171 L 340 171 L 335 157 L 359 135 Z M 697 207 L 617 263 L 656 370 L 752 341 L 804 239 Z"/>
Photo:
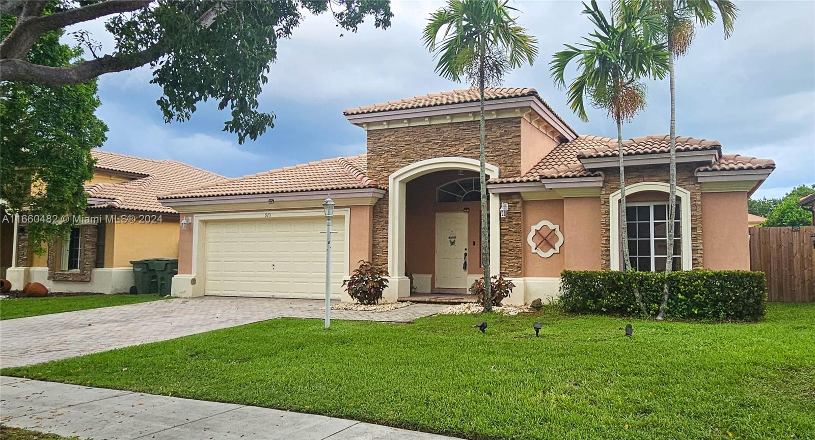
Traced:
<path fill-rule="evenodd" d="M 531 88 L 487 89 L 490 265 L 508 300 L 555 296 L 564 269 L 620 268 L 616 139 L 578 134 Z M 333 294 L 360 260 L 390 274 L 386 301 L 464 293 L 482 275 L 477 90 L 345 112 L 367 152 L 159 196 L 179 229 L 177 296 L 324 295 L 326 196 L 336 202 Z M 663 270 L 667 135 L 625 141 L 628 240 L 639 271 Z M 749 269 L 747 197 L 773 161 L 677 139 L 677 269 Z"/>

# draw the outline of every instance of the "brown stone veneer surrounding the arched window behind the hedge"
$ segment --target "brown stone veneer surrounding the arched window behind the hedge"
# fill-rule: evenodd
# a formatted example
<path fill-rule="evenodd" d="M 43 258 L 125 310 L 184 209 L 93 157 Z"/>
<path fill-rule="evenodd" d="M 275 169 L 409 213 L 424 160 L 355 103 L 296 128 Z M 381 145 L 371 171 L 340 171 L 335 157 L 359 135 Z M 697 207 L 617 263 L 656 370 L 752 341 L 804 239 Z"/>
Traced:
<path fill-rule="evenodd" d="M 698 165 L 676 164 L 676 186 L 690 191 L 690 231 L 693 269 L 703 267 L 702 240 L 702 188 L 694 176 Z M 610 218 L 609 196 L 619 190 L 619 170 L 605 169 L 605 178 L 600 196 L 601 223 L 601 264 L 603 269 L 610 269 Z M 625 184 L 641 182 L 668 181 L 667 165 L 631 166 L 625 169 Z M 679 197 L 676 197 L 679 200 Z"/>

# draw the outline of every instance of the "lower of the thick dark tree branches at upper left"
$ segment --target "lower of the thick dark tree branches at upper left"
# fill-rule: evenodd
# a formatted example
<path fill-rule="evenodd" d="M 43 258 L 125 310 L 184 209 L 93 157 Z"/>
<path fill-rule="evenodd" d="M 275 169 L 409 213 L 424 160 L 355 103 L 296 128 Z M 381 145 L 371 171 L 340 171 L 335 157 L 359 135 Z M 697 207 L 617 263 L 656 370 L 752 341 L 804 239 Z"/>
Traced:
<path fill-rule="evenodd" d="M 165 51 L 158 46 L 152 46 L 133 54 L 105 55 L 64 68 L 32 64 L 23 59 L 0 59 L 0 80 L 30 82 L 44 86 L 71 86 L 90 81 L 104 73 L 121 72 L 143 66 L 164 53 Z"/>

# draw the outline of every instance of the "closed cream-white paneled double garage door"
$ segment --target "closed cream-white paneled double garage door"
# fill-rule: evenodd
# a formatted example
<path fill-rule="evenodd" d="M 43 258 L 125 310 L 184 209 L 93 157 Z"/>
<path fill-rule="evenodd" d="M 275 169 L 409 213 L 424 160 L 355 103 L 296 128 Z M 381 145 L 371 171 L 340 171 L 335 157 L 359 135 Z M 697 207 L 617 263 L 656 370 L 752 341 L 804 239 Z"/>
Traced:
<path fill-rule="evenodd" d="M 344 218 L 334 217 L 332 294 L 346 275 Z M 325 297 L 325 218 L 207 222 L 205 293 L 228 297 Z"/>

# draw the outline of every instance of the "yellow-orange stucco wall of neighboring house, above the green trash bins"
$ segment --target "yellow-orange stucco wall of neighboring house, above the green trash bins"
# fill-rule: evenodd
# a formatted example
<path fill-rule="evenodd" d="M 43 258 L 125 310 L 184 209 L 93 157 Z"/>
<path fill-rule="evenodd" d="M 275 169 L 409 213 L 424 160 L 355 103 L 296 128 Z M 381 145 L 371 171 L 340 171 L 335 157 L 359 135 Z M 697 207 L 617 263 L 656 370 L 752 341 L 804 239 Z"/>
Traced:
<path fill-rule="evenodd" d="M 105 267 L 130 267 L 131 260 L 178 257 L 178 222 L 175 216 L 162 222 L 119 222 L 113 226 L 112 266 L 108 266 L 105 235 Z M 106 231 L 107 233 L 107 231 Z"/>

